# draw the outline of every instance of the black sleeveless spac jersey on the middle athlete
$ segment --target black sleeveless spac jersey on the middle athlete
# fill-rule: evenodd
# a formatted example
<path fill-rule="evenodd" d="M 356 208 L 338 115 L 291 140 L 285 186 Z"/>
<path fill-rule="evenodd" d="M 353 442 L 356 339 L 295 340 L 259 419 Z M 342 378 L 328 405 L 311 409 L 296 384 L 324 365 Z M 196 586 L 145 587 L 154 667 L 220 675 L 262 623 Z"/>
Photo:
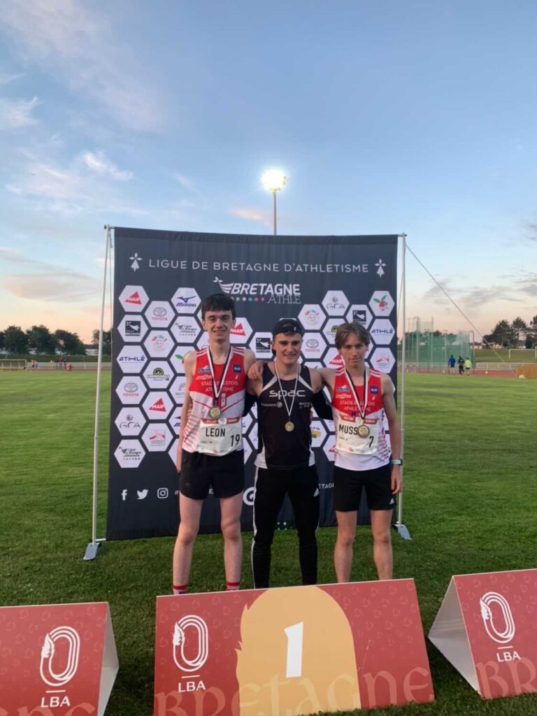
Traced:
<path fill-rule="evenodd" d="M 263 365 L 263 388 L 257 399 L 257 420 L 259 452 L 256 458 L 258 468 L 294 470 L 315 464 L 311 450 L 311 388 L 309 369 L 300 366 L 296 384 L 296 397 L 289 417 L 284 397 L 280 394 L 278 378 L 268 364 Z M 281 380 L 281 389 L 291 407 L 295 379 Z M 285 429 L 286 422 L 293 422 L 294 430 Z"/>

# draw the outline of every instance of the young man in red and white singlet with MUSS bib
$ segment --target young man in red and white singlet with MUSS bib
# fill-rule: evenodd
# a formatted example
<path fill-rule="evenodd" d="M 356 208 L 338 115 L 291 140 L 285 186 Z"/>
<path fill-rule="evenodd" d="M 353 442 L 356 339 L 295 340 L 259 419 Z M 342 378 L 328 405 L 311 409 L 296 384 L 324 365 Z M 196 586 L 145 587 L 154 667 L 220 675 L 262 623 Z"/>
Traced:
<path fill-rule="evenodd" d="M 371 514 L 377 573 L 379 579 L 392 579 L 390 526 L 395 495 L 402 487 L 401 430 L 390 376 L 366 366 L 370 341 L 369 331 L 362 324 L 342 324 L 337 329 L 335 344 L 344 365 L 335 372 L 319 369 L 332 395 L 336 433 L 334 565 L 338 582 L 350 579 L 362 488 Z M 391 454 L 384 432 L 384 415 L 390 429 Z"/>

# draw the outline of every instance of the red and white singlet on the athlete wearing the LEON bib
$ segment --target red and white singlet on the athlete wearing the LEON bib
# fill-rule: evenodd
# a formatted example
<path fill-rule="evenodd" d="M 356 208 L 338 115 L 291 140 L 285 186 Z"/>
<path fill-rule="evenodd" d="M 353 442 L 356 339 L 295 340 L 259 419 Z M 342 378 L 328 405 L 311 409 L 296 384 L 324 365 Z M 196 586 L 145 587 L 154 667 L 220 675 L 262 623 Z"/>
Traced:
<path fill-rule="evenodd" d="M 216 384 L 220 383 L 224 366 L 215 364 Z M 195 367 L 190 383 L 190 397 L 192 398 L 192 411 L 184 429 L 183 449 L 188 453 L 195 453 L 199 448 L 200 419 L 207 419 L 209 410 L 214 405 L 213 379 L 211 377 L 211 365 L 208 359 L 208 347 L 196 351 Z M 231 346 L 231 356 L 226 375 L 223 378 L 221 393 L 218 397 L 218 405 L 222 410 L 221 417 L 242 418 L 244 410 L 244 396 L 246 392 L 246 372 L 244 370 L 244 349 Z M 236 445 L 234 450 L 243 449 L 243 440 Z M 233 451 L 234 451 L 233 450 Z"/>

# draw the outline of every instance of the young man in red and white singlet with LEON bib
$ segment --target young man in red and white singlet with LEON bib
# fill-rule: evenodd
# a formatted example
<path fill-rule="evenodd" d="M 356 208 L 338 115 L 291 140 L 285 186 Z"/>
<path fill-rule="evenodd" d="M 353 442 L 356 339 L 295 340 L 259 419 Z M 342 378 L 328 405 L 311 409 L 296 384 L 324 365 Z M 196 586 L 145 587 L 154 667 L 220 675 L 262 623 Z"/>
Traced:
<path fill-rule="evenodd" d="M 244 489 L 242 415 L 250 350 L 231 345 L 235 303 L 225 294 L 203 299 L 208 346 L 184 358 L 186 392 L 177 449 L 180 525 L 173 550 L 173 593 L 188 587 L 192 550 L 209 488 L 220 499 L 226 586 L 241 582 L 241 510 Z"/>

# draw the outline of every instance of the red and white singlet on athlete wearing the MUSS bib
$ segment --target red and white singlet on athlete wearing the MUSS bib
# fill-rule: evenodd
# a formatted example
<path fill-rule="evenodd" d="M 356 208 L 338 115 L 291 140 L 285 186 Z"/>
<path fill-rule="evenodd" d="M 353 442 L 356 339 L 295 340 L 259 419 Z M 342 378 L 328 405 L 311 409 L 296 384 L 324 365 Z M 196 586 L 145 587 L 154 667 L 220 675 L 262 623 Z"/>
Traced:
<path fill-rule="evenodd" d="M 386 440 L 386 431 L 384 430 L 384 400 L 382 400 L 381 373 L 373 368 L 368 368 L 367 374 L 367 405 L 365 408 L 365 417 L 368 420 L 379 421 L 377 452 L 373 455 L 353 455 L 344 450 L 335 450 L 335 465 L 345 470 L 374 470 L 374 468 L 381 468 L 382 465 L 387 465 L 387 463 L 390 462 L 390 447 Z M 360 385 L 356 387 L 356 390 L 363 410 L 364 388 Z M 352 418 L 359 417 L 360 415 L 354 392 L 349 385 L 347 373 L 343 366 L 337 369 L 334 378 L 332 414 L 334 415 L 334 431 L 336 435 L 340 415 L 347 415 Z"/>

